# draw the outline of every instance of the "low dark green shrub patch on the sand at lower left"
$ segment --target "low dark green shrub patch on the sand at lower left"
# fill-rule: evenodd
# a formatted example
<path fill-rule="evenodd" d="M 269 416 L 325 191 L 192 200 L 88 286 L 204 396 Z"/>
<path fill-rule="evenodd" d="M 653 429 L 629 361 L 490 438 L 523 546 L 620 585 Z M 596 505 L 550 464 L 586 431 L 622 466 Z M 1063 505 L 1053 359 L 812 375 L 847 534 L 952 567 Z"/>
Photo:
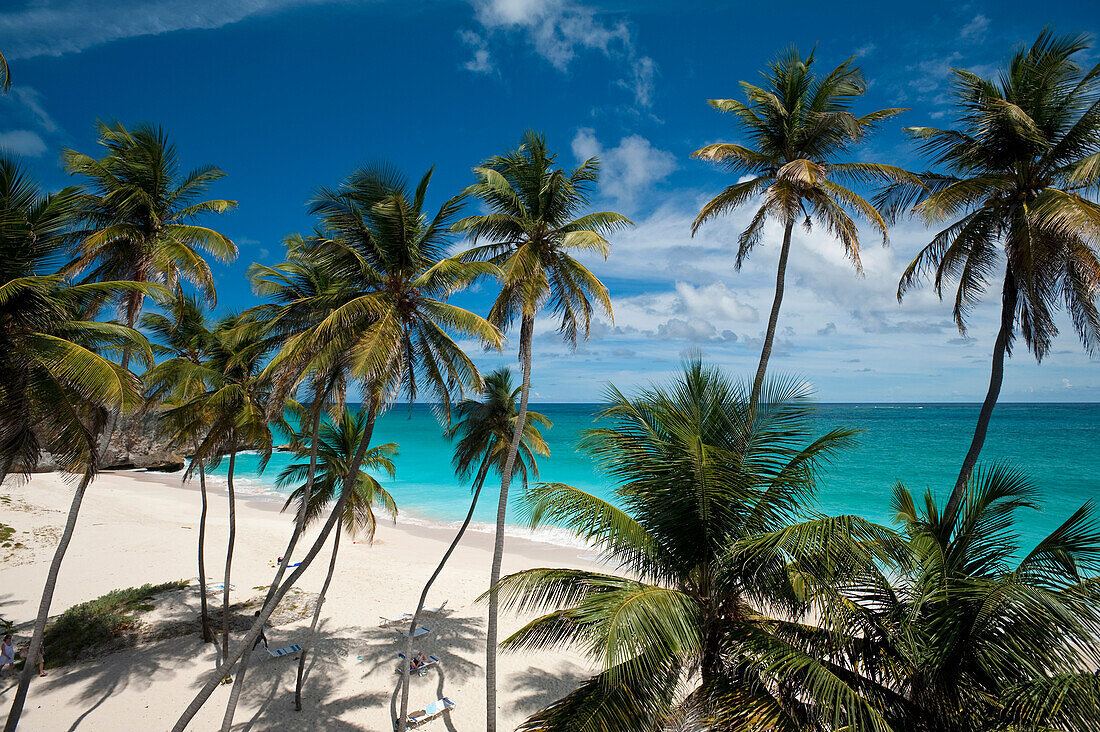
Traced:
<path fill-rule="evenodd" d="M 73 605 L 46 629 L 46 667 L 64 666 L 77 658 L 112 646 L 133 633 L 139 615 L 153 610 L 152 600 L 162 592 L 187 587 L 187 580 L 142 584 L 111 590 L 105 596 Z"/>

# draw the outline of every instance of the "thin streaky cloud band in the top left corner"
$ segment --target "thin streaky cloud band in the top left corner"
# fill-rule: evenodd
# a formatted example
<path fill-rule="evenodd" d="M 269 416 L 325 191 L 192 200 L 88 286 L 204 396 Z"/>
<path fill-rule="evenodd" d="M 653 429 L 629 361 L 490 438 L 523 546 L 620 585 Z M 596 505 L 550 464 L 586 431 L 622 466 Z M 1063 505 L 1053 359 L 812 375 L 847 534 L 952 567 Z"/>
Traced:
<path fill-rule="evenodd" d="M 59 56 L 140 35 L 215 29 L 252 15 L 332 0 L 44 0 L 0 13 L 4 55 Z"/>

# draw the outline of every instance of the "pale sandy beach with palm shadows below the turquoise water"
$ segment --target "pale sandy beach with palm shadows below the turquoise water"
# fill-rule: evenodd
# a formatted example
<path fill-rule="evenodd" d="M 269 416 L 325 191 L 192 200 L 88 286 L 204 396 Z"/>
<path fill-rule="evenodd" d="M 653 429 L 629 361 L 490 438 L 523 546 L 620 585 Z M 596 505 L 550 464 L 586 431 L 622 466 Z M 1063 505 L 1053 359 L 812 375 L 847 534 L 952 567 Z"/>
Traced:
<path fill-rule="evenodd" d="M 178 477 L 140 472 L 108 473 L 96 480 L 85 500 L 76 534 L 62 567 L 51 609 L 90 600 L 116 588 L 195 580 L 199 496 Z M 72 498 L 72 487 L 56 474 L 35 476 L 0 489 L 0 523 L 15 528 L 24 547 L 0 548 L 0 615 L 16 625 L 33 620 L 53 548 Z M 273 503 L 238 502 L 233 600 L 262 594 L 274 569 L 268 561 L 286 546 L 290 518 Z M 228 501 L 210 491 L 207 575 L 223 571 Z M 294 711 L 297 664 L 268 658 L 249 671 L 237 713 L 240 730 L 389 730 L 398 703 L 400 649 L 380 615 L 410 611 L 424 581 L 453 536 L 450 529 L 421 525 L 381 525 L 373 545 L 341 542 L 339 564 L 324 604 L 317 653 L 309 665 L 305 710 Z M 312 542 L 314 535 L 307 537 Z M 304 542 L 306 546 L 306 544 Z M 432 632 L 417 644 L 438 656 L 426 677 L 413 679 L 410 704 L 438 697 L 457 702 L 449 715 L 426 729 L 476 732 L 484 728 L 485 609 L 475 604 L 488 578 L 492 537 L 468 535 L 428 598 L 448 601 L 441 618 L 426 620 Z M 299 554 L 305 549 L 299 550 Z M 504 571 L 527 567 L 594 567 L 584 553 L 550 544 L 509 538 Z M 316 592 L 324 579 L 328 550 L 318 556 L 299 586 Z M 195 616 L 198 593 L 183 591 L 156 613 Z M 163 604 L 163 603 L 162 603 Z M 502 618 L 507 634 L 527 619 Z M 268 631 L 273 647 L 298 643 L 308 620 Z M 503 637 L 503 635 L 502 635 Z M 20 729 L 164 730 L 208 678 L 215 654 L 197 635 L 143 643 L 94 662 L 52 669 L 31 686 Z M 571 654 L 503 655 L 498 664 L 499 721 L 513 729 L 530 712 L 568 693 L 587 677 L 583 658 Z M 0 704 L 7 713 L 14 682 L 0 679 Z M 190 729 L 217 729 L 230 687 L 221 687 Z"/>

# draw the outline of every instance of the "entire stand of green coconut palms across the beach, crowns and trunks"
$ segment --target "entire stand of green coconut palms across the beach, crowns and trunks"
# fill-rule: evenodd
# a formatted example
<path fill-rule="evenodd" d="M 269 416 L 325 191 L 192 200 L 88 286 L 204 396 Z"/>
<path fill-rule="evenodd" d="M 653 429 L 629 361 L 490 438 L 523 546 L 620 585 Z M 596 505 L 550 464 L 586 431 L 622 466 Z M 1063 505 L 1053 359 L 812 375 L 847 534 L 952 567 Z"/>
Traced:
<path fill-rule="evenodd" d="M 1042 359 L 1060 301 L 1086 349 L 1100 337 L 1100 66 L 1077 64 L 1086 47 L 1081 37 L 1044 32 L 996 81 L 956 72 L 959 129 L 911 129 L 939 168 L 923 173 L 850 162 L 868 132 L 902 111 L 853 112 L 867 85 L 851 62 L 820 75 L 813 55 L 792 51 L 761 85 L 744 85 L 745 102 L 713 100 L 735 114 L 743 142 L 696 155 L 740 179 L 702 209 L 693 230 L 757 206 L 738 239 L 740 266 L 769 222 L 781 227 L 763 348 L 745 385 L 692 360 L 668 389 L 609 392 L 607 426 L 590 430 L 584 447 L 617 483 L 616 505 L 568 485 L 528 485 L 547 452 L 540 428 L 549 426 L 528 409 L 539 316 L 574 346 L 595 314 L 612 317 L 607 288 L 575 258 L 606 258 L 609 237 L 630 226 L 622 215 L 588 210 L 597 160 L 562 170 L 543 138 L 528 132 L 435 210 L 426 204 L 431 171 L 413 186 L 385 165 L 356 170 L 316 192 L 316 227 L 286 240 L 285 262 L 250 267 L 264 302 L 210 321 L 205 306 L 216 293 L 206 258 L 237 255 L 232 241 L 200 223 L 235 206 L 205 199 L 220 170 L 183 174 L 162 130 L 118 123 L 100 124 L 99 157 L 64 153 L 79 187 L 43 194 L 18 163 L 0 159 L 0 479 L 25 474 L 42 450 L 79 478 L 30 657 L 41 647 L 80 501 L 119 420 L 153 408 L 191 456 L 188 476 L 198 474 L 201 626 L 218 648 L 216 668 L 174 729 L 232 680 L 222 723 L 230 729 L 254 641 L 331 538 L 298 669 L 300 709 L 340 534 L 371 536 L 375 509 L 397 511 L 371 476 L 393 472 L 397 450 L 373 443 L 376 420 L 397 400 L 421 398 L 455 438 L 455 469 L 472 478 L 473 495 L 421 592 L 410 638 L 490 473 L 501 479 L 485 594 L 490 732 L 498 645 L 571 645 L 601 668 L 526 730 L 1096 729 L 1100 531 L 1091 509 L 1022 554 L 1013 515 L 1033 505 L 1034 489 L 1008 469 L 977 467 L 1016 328 Z M 880 189 L 868 200 L 848 186 Z M 471 200 L 482 211 L 463 217 Z M 937 293 L 957 281 L 963 329 L 1003 252 L 1003 304 L 989 395 L 958 481 L 943 509 L 931 493 L 919 509 L 899 487 L 893 531 L 812 510 L 815 477 L 851 433 L 813 438 L 804 389 L 769 380 L 767 368 L 795 223 L 824 227 L 860 271 L 856 219 L 886 243 L 888 225 L 908 215 L 949 225 L 906 270 L 899 297 L 927 274 Z M 471 248 L 455 254 L 460 237 Z M 487 317 L 448 302 L 482 278 L 499 286 Z M 184 282 L 206 303 L 184 294 Z M 158 312 L 146 312 L 146 298 Z M 518 387 L 506 371 L 483 378 L 459 343 L 499 349 L 515 326 Z M 353 413 L 346 401 L 356 386 L 362 407 Z M 273 427 L 290 434 L 298 452 L 279 476 L 294 489 L 286 505 L 294 527 L 258 615 L 234 643 L 235 459 L 243 449 L 266 459 Z M 230 533 L 216 633 L 206 592 L 206 474 L 221 460 Z M 526 488 L 532 525 L 574 528 L 620 571 L 534 569 L 502 579 L 514 478 Z M 319 531 L 292 569 L 309 526 Z M 549 612 L 498 644 L 501 605 Z M 30 677 L 24 670 L 6 730 L 18 724 Z M 406 668 L 399 732 L 407 704 Z"/>

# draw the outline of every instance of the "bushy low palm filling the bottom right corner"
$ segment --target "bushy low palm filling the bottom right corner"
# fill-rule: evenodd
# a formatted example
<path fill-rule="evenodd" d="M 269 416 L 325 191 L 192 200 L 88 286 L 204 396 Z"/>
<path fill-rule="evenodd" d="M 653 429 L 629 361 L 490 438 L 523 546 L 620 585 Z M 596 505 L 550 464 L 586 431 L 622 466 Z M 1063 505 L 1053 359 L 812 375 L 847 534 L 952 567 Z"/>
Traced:
<path fill-rule="evenodd" d="M 953 514 L 899 484 L 900 561 L 847 590 L 869 647 L 846 668 L 893 730 L 1100 729 L 1100 528 L 1091 503 L 1030 551 L 1035 485 L 979 468 Z M 864 658 L 867 662 L 864 663 Z"/>

